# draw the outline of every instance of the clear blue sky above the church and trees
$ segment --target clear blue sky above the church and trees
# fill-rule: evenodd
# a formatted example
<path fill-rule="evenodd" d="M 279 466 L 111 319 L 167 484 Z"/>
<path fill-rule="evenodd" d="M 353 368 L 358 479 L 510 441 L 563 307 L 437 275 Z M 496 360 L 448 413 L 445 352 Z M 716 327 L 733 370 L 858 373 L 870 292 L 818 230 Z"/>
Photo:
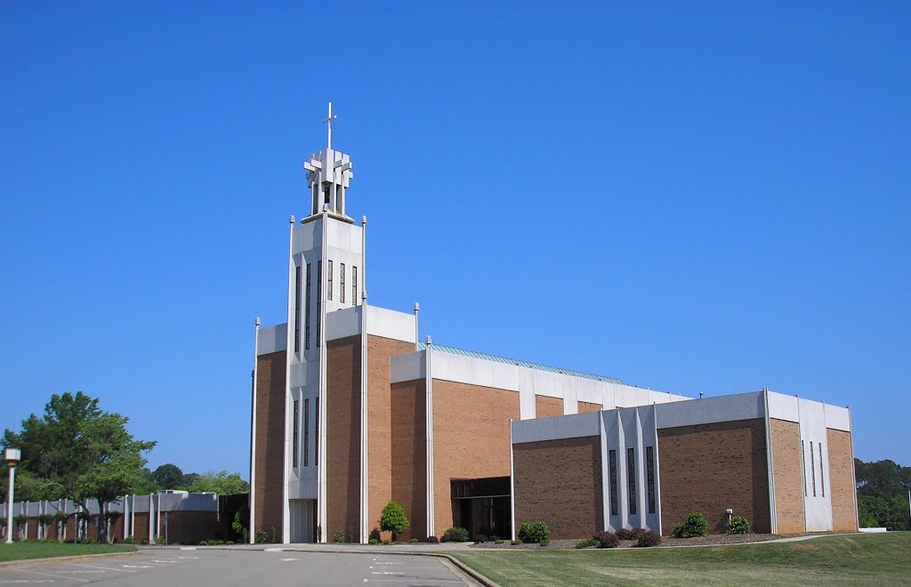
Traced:
<path fill-rule="evenodd" d="M 911 5 L 510 5 L 0 5 L 0 428 L 85 390 L 246 477 L 333 100 L 422 336 L 850 405 L 911 464 Z"/>

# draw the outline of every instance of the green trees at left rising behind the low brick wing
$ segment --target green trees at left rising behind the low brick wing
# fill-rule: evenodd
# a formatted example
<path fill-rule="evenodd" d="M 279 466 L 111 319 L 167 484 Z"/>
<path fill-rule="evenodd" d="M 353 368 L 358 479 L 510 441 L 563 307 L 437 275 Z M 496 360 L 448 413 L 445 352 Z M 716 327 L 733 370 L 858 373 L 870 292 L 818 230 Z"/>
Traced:
<path fill-rule="evenodd" d="M 249 486 L 240 473 L 187 473 L 174 464 L 155 471 L 143 456 L 154 440 L 136 440 L 128 418 L 101 410 L 97 398 L 82 391 L 54 394 L 40 417 L 22 420 L 22 430 L 6 429 L 4 448 L 22 450 L 15 470 L 15 501 L 72 500 L 84 510 L 96 501 L 99 541 L 107 541 L 107 505 L 132 493 L 166 489 L 242 493 Z M 6 463 L 0 463 L 0 494 L 8 495 Z"/>

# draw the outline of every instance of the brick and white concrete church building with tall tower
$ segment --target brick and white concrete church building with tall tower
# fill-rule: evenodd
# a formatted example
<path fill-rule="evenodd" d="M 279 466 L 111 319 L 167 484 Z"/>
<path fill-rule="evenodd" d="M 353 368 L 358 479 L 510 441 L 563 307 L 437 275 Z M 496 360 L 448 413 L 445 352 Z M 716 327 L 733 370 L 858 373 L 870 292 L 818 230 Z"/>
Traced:
<path fill-rule="evenodd" d="M 330 105 L 327 147 L 303 162 L 306 214 L 289 222 L 287 319 L 256 320 L 251 540 L 366 542 L 389 501 L 410 521 L 401 540 L 453 526 L 508 539 L 534 520 L 555 538 L 667 534 L 700 509 L 717 531 L 729 509 L 756 531 L 856 529 L 844 408 L 768 390 L 691 399 L 456 349 L 418 339 L 417 304 L 369 305 L 367 219 L 349 215 L 333 119 Z"/>

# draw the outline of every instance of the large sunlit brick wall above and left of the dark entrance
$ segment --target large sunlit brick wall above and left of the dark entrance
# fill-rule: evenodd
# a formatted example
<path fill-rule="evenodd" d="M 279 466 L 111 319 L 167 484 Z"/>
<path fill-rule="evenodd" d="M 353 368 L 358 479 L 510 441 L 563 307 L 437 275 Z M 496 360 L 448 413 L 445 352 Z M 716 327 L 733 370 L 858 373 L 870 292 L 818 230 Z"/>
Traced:
<path fill-rule="evenodd" d="M 509 475 L 509 420 L 518 420 L 519 406 L 515 391 L 433 384 L 434 525 L 441 536 L 453 525 L 452 479 Z"/>

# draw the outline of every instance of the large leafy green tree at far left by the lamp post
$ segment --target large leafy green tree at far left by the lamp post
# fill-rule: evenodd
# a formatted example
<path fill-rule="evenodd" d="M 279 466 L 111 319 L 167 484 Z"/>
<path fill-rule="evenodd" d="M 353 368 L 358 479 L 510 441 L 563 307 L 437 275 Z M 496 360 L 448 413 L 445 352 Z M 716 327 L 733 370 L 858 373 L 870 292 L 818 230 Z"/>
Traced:
<path fill-rule="evenodd" d="M 98 408 L 82 391 L 52 395 L 41 418 L 22 422 L 22 431 L 6 430 L 5 447 L 22 449 L 20 471 L 33 499 L 67 498 L 87 510 L 95 500 L 99 541 L 107 541 L 107 502 L 131 493 L 144 481 L 142 453 L 155 442 L 134 440 L 128 418 Z"/>

